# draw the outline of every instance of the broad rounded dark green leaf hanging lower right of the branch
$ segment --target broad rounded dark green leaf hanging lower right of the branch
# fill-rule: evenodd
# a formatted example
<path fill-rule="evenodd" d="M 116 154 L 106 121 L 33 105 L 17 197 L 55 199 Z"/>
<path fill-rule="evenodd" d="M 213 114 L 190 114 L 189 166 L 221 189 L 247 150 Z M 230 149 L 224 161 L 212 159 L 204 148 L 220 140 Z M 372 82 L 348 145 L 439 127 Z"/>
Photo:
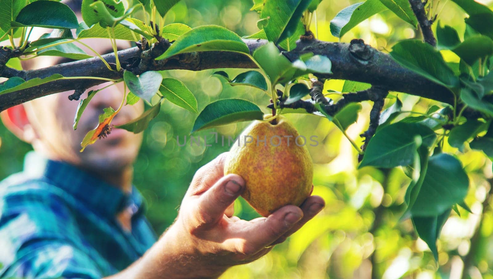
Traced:
<path fill-rule="evenodd" d="M 441 153 L 429 158 L 428 168 L 418 197 L 410 209 L 412 216 L 434 216 L 462 202 L 469 188 L 469 178 L 460 161 Z"/>

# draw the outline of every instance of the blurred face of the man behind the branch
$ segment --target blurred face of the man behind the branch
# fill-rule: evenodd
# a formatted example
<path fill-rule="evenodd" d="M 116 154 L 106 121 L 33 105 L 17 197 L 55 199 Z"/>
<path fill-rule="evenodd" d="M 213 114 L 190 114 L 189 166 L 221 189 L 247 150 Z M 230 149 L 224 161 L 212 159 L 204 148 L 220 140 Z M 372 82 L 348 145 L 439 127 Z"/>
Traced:
<path fill-rule="evenodd" d="M 111 52 L 109 39 L 86 39 L 84 42 L 100 54 Z M 118 42 L 119 48 L 128 48 L 130 44 Z M 88 54 L 93 55 L 91 52 Z M 45 57 L 36 62 L 35 68 L 47 67 L 63 62 L 57 57 Z M 81 98 L 87 97 L 89 90 L 101 89 L 111 83 L 90 88 Z M 134 134 L 123 129 L 112 128 L 111 133 L 95 144 L 89 145 L 81 153 L 80 143 L 86 133 L 98 125 L 98 116 L 103 109 L 112 107 L 117 110 L 124 98 L 123 82 L 96 93 L 84 110 L 76 130 L 73 120 L 79 101 L 70 101 L 73 93 L 55 93 L 35 99 L 25 105 L 28 119 L 33 126 L 35 139 L 32 144 L 50 158 L 68 161 L 83 168 L 101 171 L 118 171 L 130 165 L 136 158 L 142 142 L 142 134 Z M 125 102 L 125 101 L 124 101 Z M 124 124 L 139 117 L 144 110 L 142 100 L 135 105 L 124 105 L 111 122 L 111 125 Z"/>

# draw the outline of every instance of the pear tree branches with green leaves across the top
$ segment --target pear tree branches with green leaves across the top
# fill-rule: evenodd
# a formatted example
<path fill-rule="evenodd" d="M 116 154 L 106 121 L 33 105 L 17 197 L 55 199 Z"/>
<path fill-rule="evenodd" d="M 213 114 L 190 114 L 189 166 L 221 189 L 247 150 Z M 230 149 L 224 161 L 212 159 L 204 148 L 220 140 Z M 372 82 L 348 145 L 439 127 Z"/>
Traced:
<path fill-rule="evenodd" d="M 445 221 L 452 211 L 459 214 L 459 207 L 470 211 L 464 202 L 469 178 L 455 154 L 474 149 L 493 157 L 493 11 L 474 0 L 453 0 L 468 15 L 460 19 L 466 28 L 459 35 L 451 26 L 435 24 L 437 1 L 366 0 L 341 10 L 331 20 L 330 30 L 320 30 L 342 37 L 370 16 L 390 10 L 421 30 L 422 39 L 398 41 L 388 53 L 359 38 L 351 43 L 317 40 L 311 27 L 320 1 L 254 0 L 251 9 L 258 11 L 260 31 L 240 37 L 215 25 L 193 29 L 180 23 L 164 25 L 164 17 L 178 0 L 129 0 L 125 4 L 83 0 L 83 22 L 61 2 L 0 0 L 0 77 L 6 78 L 0 84 L 0 111 L 69 90 L 74 91 L 69 98 L 76 101 L 95 85 L 124 83 L 121 106 L 104 110 L 99 124 L 81 142 L 81 151 L 111 131 L 111 121 L 123 105 L 140 99 L 150 108 L 116 127 L 143 131 L 165 100 L 197 114 L 192 133 L 262 120 L 261 107 L 273 116 L 294 113 L 327 118 L 352 143 L 359 154 L 359 168 L 372 166 L 386 173 L 396 167 L 404 170 L 410 183 L 401 220 L 412 220 L 438 260 L 436 242 Z M 32 37 L 35 27 L 53 31 Z M 110 40 L 113 53 L 91 57 L 74 44 L 94 37 Z M 117 39 L 134 41 L 137 46 L 117 51 Z M 445 60 L 444 51 L 454 53 L 458 60 Z M 35 70 L 15 66 L 18 59 L 42 55 L 76 61 Z M 199 113 L 194 93 L 160 72 L 217 68 L 245 69 L 236 77 L 224 71 L 213 74 L 231 86 L 260 89 L 271 97 L 271 103 L 227 98 L 211 102 Z M 342 92 L 328 88 L 327 81 L 334 79 L 345 80 Z M 392 94 L 396 92 L 432 102 L 425 113 L 404 111 L 406 104 Z M 96 93 L 89 91 L 80 99 L 73 112 L 74 129 Z M 362 102 L 371 103 L 372 109 L 369 126 L 360 135 L 364 143 L 358 146 L 346 130 L 356 122 Z M 409 116 L 403 118 L 403 114 Z M 445 144 L 455 148 L 454 153 L 442 152 Z M 466 264 L 473 265 L 470 261 Z"/>

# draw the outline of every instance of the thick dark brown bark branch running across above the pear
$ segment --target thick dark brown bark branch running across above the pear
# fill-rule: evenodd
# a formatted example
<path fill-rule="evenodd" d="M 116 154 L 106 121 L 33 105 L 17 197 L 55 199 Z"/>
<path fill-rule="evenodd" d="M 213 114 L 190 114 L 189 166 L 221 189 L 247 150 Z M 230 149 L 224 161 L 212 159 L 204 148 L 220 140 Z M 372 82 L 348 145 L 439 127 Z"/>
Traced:
<path fill-rule="evenodd" d="M 265 40 L 245 39 L 250 53 L 266 43 Z M 291 61 L 300 55 L 313 52 L 328 57 L 332 62 L 332 74 L 318 75 L 318 78 L 347 79 L 371 83 L 389 91 L 409 93 L 449 104 L 454 103 L 454 95 L 447 88 L 435 84 L 417 73 L 402 67 L 385 53 L 365 45 L 361 40 L 351 44 L 331 43 L 318 40 L 299 41 L 296 49 L 283 54 Z M 114 55 L 104 56 L 108 62 L 114 62 Z M 135 62 L 141 58 L 138 47 L 118 52 L 120 61 Z M 248 57 L 239 53 L 209 51 L 177 55 L 165 61 L 151 61 L 147 70 L 204 70 L 213 68 L 255 68 Z M 141 68 L 139 66 L 139 68 Z M 98 58 L 69 62 L 52 67 L 23 71 L 21 77 L 26 80 L 35 77 L 44 78 L 59 73 L 63 76 L 95 76 L 119 78 L 121 73 L 110 71 Z M 17 92 L 0 95 L 0 111 L 52 93 L 89 88 L 102 83 L 100 80 L 60 80 Z"/>

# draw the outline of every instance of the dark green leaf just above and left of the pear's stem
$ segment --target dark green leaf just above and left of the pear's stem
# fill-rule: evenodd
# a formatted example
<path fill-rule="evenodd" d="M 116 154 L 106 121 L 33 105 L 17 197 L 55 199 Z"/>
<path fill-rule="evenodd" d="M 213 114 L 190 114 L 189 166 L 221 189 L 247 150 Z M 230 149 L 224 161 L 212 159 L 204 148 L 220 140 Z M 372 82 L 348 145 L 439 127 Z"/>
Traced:
<path fill-rule="evenodd" d="M 260 108 L 243 99 L 222 99 L 208 104 L 193 124 L 192 132 L 241 121 L 262 120 Z"/>

